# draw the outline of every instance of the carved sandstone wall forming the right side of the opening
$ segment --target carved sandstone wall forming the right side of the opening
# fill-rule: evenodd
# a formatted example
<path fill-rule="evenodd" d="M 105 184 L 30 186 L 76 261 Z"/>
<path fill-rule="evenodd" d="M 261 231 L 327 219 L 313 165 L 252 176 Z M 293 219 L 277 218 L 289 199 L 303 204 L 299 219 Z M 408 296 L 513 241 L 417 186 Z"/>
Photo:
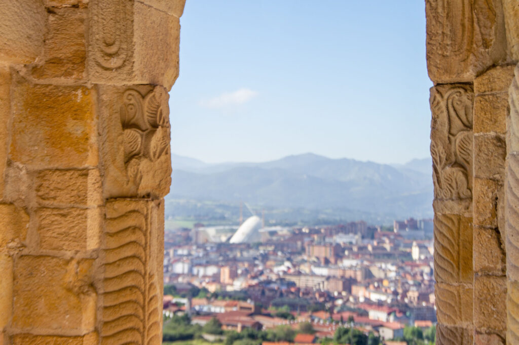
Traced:
<path fill-rule="evenodd" d="M 519 3 L 426 0 L 426 16 L 437 343 L 517 344 Z"/>

